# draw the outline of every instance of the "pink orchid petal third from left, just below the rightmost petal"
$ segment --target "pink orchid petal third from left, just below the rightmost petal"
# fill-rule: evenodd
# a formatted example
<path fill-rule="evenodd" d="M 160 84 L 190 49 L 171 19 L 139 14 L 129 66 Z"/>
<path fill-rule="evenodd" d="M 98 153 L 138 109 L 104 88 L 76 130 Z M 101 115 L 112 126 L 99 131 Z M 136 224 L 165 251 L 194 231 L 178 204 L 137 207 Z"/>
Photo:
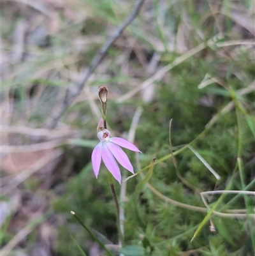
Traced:
<path fill-rule="evenodd" d="M 113 142 L 106 142 L 106 146 L 110 149 L 113 156 L 117 159 L 117 161 L 122 165 L 124 168 L 128 169 L 129 172 L 134 174 L 133 166 L 131 165 L 128 156 L 126 153 L 119 147 L 117 144 Z"/>

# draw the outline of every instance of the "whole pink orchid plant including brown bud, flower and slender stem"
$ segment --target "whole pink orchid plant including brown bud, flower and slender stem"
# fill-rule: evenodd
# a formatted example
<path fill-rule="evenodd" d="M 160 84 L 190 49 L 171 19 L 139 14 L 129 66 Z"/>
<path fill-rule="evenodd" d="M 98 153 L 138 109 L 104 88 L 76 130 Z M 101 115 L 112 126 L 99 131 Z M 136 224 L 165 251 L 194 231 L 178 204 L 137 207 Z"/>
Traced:
<path fill-rule="evenodd" d="M 100 140 L 99 144 L 94 148 L 91 156 L 92 160 L 92 168 L 94 170 L 94 174 L 96 178 L 98 178 L 99 169 L 101 165 L 101 160 L 105 163 L 106 168 L 109 170 L 108 172 L 108 180 L 110 183 L 110 188 L 112 190 L 113 199 L 115 202 L 116 210 L 117 210 L 117 227 L 119 232 L 119 239 L 121 245 L 123 245 L 124 237 L 120 231 L 120 222 L 119 222 L 119 202 L 117 199 L 115 187 L 113 184 L 113 177 L 119 181 L 121 184 L 121 174 L 119 165 L 117 162 L 122 165 L 125 169 L 129 170 L 132 174 L 134 174 L 133 166 L 128 159 L 128 156 L 121 147 L 129 149 L 131 151 L 140 152 L 141 151 L 128 140 L 113 137 L 110 138 L 110 132 L 107 130 L 106 126 L 106 102 L 107 102 L 107 94 L 108 89 L 105 86 L 100 86 L 98 89 L 99 100 L 102 103 L 102 116 L 103 119 L 100 119 L 98 122 L 98 139 Z M 117 162 L 116 162 L 117 160 Z"/>

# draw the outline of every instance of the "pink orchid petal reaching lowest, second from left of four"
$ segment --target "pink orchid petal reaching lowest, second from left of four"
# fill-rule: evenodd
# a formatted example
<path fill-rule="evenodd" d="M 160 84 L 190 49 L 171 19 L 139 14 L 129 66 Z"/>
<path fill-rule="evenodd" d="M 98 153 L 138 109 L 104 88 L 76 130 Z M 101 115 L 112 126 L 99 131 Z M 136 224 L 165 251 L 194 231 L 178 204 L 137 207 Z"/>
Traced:
<path fill-rule="evenodd" d="M 106 146 L 106 142 L 102 142 L 102 158 L 103 158 L 103 162 L 105 163 L 106 168 L 110 171 L 110 173 L 113 175 L 113 177 L 115 177 L 115 179 L 117 179 L 117 181 L 121 181 L 121 174 L 120 174 L 120 169 L 119 166 L 117 165 L 117 162 L 112 154 L 112 152 L 110 151 L 110 149 L 108 148 L 108 146 Z"/>

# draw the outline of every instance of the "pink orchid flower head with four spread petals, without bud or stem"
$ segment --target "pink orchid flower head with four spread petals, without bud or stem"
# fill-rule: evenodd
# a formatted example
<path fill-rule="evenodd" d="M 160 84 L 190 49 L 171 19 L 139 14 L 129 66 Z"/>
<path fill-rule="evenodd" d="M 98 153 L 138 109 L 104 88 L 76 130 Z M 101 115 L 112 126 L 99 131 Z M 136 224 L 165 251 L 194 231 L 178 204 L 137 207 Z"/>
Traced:
<path fill-rule="evenodd" d="M 121 147 L 124 147 L 135 152 L 142 152 L 134 144 L 128 142 L 128 140 L 124 140 L 122 138 L 117 137 L 110 138 L 110 132 L 104 128 L 102 118 L 98 122 L 97 130 L 98 139 L 100 140 L 100 142 L 94 148 L 91 156 L 92 168 L 94 170 L 96 178 L 98 178 L 101 160 L 103 159 L 106 168 L 111 172 L 113 177 L 115 177 L 115 179 L 117 179 L 117 181 L 119 181 L 120 183 L 121 174 L 116 160 L 124 168 L 128 169 L 129 172 L 134 174 L 133 166 L 131 165 L 128 156 L 121 149 Z"/>

